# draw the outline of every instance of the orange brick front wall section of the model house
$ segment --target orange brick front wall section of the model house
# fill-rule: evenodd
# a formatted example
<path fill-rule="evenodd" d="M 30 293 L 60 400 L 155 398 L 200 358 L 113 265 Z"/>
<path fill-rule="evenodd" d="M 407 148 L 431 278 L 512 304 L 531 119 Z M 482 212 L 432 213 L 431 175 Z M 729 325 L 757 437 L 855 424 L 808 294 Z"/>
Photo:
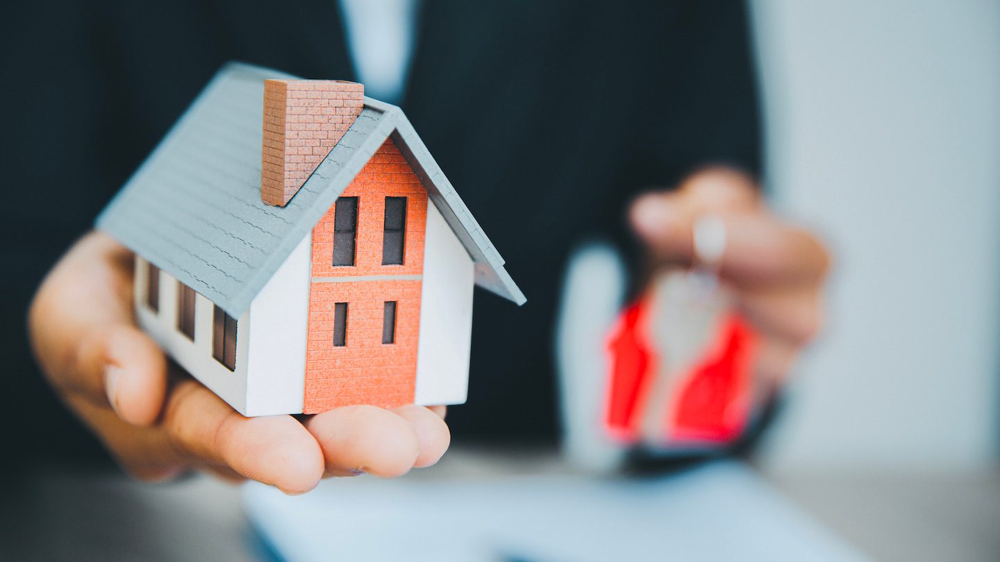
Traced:
<path fill-rule="evenodd" d="M 313 228 L 314 279 L 423 273 L 427 191 L 391 140 L 382 145 L 342 196 L 358 197 L 355 265 L 332 265 L 334 207 L 331 207 Z M 407 198 L 403 265 L 382 265 L 387 196 Z M 420 280 L 311 283 L 305 413 L 350 404 L 391 408 L 413 402 L 421 283 Z M 385 301 L 397 301 L 394 344 L 382 344 Z M 333 311 L 338 302 L 348 303 L 344 347 L 333 345 Z"/>

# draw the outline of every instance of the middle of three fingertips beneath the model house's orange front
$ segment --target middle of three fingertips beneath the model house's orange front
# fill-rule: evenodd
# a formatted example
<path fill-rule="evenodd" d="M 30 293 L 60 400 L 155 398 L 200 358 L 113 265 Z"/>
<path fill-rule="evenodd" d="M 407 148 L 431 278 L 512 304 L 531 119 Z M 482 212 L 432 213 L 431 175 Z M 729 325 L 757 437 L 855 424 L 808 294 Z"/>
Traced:
<path fill-rule="evenodd" d="M 411 419 L 417 417 L 409 410 L 407 415 Z M 441 422 L 440 419 L 438 421 Z M 402 476 L 420 458 L 422 440 L 438 448 L 441 443 L 439 437 L 421 438 L 417 433 L 418 426 L 411 425 L 410 421 L 394 412 L 375 406 L 345 406 L 316 414 L 305 423 L 323 449 L 327 476 L 360 472 L 383 478 Z M 440 431 L 427 419 L 420 418 L 420 430 L 427 427 L 431 431 Z M 436 449 L 431 450 L 424 460 L 434 454 Z"/>

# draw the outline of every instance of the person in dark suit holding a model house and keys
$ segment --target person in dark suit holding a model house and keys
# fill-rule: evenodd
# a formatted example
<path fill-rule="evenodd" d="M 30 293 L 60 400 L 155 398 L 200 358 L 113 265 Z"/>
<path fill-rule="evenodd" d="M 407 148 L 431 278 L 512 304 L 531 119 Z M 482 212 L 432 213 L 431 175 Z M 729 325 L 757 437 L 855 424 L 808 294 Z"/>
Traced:
<path fill-rule="evenodd" d="M 448 416 L 454 437 L 554 442 L 552 331 L 573 248 L 611 240 L 636 272 L 689 264 L 706 214 L 725 224 L 719 273 L 761 336 L 759 370 L 777 384 L 819 326 L 827 258 L 761 202 L 745 7 L 407 4 L 407 64 L 395 87 L 376 80 L 382 97 L 406 111 L 529 298 L 520 309 L 477 299 L 468 404 Z M 435 462 L 449 443 L 441 408 L 246 419 L 171 373 L 133 324 L 131 255 L 89 232 L 226 61 L 358 80 L 348 39 L 355 51 L 364 40 L 345 33 L 356 29 L 337 4 L 77 2 L 19 6 L 12 21 L 3 39 L 5 107 L 16 108 L 3 151 L 11 194 L 0 220 L 4 262 L 17 264 L 0 300 L 14 381 L 0 403 L 9 450 L 29 463 L 102 458 L 79 420 L 140 478 L 201 469 L 290 493 L 322 476 L 395 476 Z M 15 429 L 25 420 L 30 431 Z"/>

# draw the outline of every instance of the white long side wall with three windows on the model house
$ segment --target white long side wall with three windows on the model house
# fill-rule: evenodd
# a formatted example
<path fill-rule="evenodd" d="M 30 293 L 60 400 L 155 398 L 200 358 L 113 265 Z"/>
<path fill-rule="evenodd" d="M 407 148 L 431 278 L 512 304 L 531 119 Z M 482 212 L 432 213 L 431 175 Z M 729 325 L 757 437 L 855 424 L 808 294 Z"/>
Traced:
<path fill-rule="evenodd" d="M 243 415 L 247 414 L 247 336 L 249 311 L 243 313 L 236 324 L 236 370 L 230 371 L 212 357 L 212 313 L 214 305 L 207 298 L 195 296 L 194 341 L 177 330 L 178 281 L 160 271 L 159 313 L 153 312 L 145 301 L 146 261 L 135 260 L 134 305 L 136 320 L 167 354 L 187 372 L 219 395 Z"/>

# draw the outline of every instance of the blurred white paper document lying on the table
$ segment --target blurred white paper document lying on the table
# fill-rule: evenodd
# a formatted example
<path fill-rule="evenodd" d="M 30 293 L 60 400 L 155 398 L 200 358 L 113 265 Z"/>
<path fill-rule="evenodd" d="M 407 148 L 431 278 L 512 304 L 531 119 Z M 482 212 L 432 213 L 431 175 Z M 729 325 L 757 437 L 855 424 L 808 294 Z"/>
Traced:
<path fill-rule="evenodd" d="M 244 498 L 289 562 L 867 560 L 735 461 L 645 479 L 334 479 L 298 497 L 249 484 Z"/>

